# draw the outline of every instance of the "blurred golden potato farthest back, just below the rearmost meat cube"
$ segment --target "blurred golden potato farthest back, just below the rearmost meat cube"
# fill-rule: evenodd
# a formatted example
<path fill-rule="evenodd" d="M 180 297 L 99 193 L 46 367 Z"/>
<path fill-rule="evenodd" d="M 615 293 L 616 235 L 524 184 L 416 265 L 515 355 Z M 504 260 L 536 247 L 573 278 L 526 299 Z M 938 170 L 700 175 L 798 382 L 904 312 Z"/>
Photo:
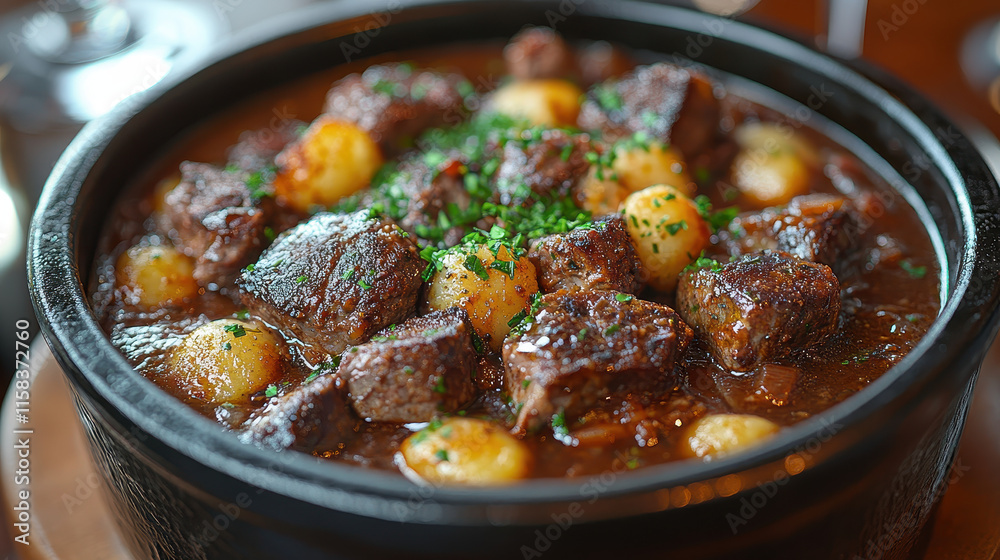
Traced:
<path fill-rule="evenodd" d="M 496 91 L 493 107 L 533 125 L 576 126 L 583 92 L 565 80 L 518 80 Z"/>

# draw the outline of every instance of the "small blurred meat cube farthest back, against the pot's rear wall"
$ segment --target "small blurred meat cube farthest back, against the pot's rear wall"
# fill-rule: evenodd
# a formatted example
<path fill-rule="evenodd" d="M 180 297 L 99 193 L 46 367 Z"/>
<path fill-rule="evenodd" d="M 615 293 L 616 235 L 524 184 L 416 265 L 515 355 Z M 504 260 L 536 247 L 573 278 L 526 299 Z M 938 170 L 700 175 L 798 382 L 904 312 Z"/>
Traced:
<path fill-rule="evenodd" d="M 555 31 L 532 27 L 515 35 L 504 47 L 507 72 L 518 80 L 567 78 L 574 73 L 573 53 Z"/>

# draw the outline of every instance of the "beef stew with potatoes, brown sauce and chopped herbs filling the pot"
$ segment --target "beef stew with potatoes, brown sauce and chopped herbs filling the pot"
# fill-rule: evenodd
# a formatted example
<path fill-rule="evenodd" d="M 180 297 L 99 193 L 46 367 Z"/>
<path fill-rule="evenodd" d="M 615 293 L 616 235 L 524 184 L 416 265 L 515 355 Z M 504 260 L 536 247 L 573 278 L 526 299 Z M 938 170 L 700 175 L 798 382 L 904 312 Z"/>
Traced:
<path fill-rule="evenodd" d="M 918 213 L 818 118 L 544 28 L 460 51 L 178 142 L 91 289 L 141 375 L 248 444 L 498 484 L 738 452 L 936 317 Z"/>

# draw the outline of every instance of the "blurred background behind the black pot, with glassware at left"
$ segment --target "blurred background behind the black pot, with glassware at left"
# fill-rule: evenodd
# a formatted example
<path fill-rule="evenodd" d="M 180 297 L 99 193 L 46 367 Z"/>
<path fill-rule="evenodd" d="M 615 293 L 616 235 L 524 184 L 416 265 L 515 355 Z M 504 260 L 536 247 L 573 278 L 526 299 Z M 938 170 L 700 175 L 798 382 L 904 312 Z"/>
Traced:
<path fill-rule="evenodd" d="M 28 319 L 37 329 L 24 266 L 28 222 L 74 135 L 122 100 L 197 66 L 213 48 L 314 1 L 0 2 L 0 387 L 8 386 L 14 372 L 15 322 Z M 997 0 L 673 3 L 737 15 L 889 69 L 958 122 L 988 158 L 1000 161 Z M 373 9 L 384 4 L 373 2 Z M 5 550 L 5 530 L 0 526 L 0 558 L 12 554 Z"/>

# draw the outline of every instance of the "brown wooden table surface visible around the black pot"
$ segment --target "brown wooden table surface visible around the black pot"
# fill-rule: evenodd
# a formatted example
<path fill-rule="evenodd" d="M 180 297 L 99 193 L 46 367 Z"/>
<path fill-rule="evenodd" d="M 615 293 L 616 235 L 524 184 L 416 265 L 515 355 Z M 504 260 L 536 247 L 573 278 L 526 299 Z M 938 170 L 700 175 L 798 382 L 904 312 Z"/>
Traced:
<path fill-rule="evenodd" d="M 831 0 L 839 1 L 839 0 Z M 249 5 L 250 3 L 248 3 Z M 816 34 L 816 2 L 762 0 L 747 18 L 804 36 Z M 1000 16 L 1000 2 L 972 0 L 869 0 L 864 56 L 885 67 L 962 122 L 976 122 L 1000 134 L 1000 103 L 970 87 L 959 66 L 961 41 L 975 25 Z M 6 550 L 9 523 L 0 524 L 0 558 L 118 560 L 128 558 L 115 534 L 107 506 L 94 491 L 82 428 L 68 389 L 47 352 L 35 348 L 39 373 L 32 435 L 32 544 Z M 44 399 L 44 400 L 42 400 Z M 13 412 L 0 419 L 3 503 L 11 504 Z M 972 414 L 958 454 L 962 476 L 944 496 L 931 528 L 928 559 L 1000 560 L 1000 345 L 983 368 Z M 5 507 L 5 514 L 11 512 Z M 19 556 L 14 556 L 15 554 Z"/>

